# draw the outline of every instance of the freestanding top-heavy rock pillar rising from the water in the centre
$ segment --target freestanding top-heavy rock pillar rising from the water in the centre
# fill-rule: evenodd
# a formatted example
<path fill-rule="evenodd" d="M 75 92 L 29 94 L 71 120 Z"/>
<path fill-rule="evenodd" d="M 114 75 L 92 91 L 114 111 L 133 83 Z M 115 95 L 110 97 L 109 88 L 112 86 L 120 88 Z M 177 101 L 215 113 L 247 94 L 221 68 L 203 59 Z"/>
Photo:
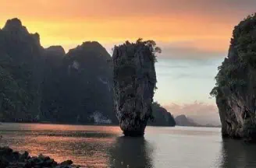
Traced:
<path fill-rule="evenodd" d="M 144 135 L 151 118 L 156 84 L 154 46 L 138 40 L 114 49 L 114 106 L 124 135 Z"/>

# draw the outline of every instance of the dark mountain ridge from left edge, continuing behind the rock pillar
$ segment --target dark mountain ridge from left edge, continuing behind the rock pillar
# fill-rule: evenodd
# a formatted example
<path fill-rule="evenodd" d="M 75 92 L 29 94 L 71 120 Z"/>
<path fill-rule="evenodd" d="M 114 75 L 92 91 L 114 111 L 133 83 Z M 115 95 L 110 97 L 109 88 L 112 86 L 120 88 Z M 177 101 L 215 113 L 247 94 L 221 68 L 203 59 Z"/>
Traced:
<path fill-rule="evenodd" d="M 174 126 L 158 103 L 151 125 Z M 113 102 L 112 57 L 98 42 L 65 52 L 44 48 L 20 19 L 0 30 L 0 121 L 119 124 Z"/>

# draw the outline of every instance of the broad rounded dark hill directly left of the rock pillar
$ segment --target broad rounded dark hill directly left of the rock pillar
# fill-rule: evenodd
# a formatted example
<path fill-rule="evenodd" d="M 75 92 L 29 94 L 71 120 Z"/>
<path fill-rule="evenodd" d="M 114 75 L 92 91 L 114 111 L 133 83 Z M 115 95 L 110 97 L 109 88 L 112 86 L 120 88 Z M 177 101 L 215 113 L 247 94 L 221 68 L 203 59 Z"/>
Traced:
<path fill-rule="evenodd" d="M 111 56 L 98 42 L 85 42 L 70 50 L 64 60 L 62 100 L 66 114 L 62 118 L 93 122 L 95 114 L 116 122 L 113 112 Z M 93 115 L 94 116 L 94 115 Z"/>

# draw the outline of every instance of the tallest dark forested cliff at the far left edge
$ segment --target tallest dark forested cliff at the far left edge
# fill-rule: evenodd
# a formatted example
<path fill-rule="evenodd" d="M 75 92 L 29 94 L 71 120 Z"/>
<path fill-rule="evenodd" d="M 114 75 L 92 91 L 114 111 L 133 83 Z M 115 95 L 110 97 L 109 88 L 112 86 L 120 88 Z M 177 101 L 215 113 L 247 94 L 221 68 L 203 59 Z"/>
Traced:
<path fill-rule="evenodd" d="M 5 74 L 1 82 L 11 83 L 0 93 L 6 121 L 33 120 L 41 114 L 42 51 L 39 35 L 28 33 L 19 19 L 9 19 L 0 30 L 0 68 Z"/>

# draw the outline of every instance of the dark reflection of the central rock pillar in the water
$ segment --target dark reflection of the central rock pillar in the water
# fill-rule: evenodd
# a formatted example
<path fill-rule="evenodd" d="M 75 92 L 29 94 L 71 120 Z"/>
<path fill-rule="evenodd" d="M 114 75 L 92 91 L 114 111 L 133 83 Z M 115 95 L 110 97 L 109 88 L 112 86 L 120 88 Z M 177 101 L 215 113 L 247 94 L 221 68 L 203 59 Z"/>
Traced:
<path fill-rule="evenodd" d="M 113 149 L 110 150 L 110 167 L 153 167 L 151 158 L 153 147 L 144 138 L 119 137 L 113 145 Z"/>

